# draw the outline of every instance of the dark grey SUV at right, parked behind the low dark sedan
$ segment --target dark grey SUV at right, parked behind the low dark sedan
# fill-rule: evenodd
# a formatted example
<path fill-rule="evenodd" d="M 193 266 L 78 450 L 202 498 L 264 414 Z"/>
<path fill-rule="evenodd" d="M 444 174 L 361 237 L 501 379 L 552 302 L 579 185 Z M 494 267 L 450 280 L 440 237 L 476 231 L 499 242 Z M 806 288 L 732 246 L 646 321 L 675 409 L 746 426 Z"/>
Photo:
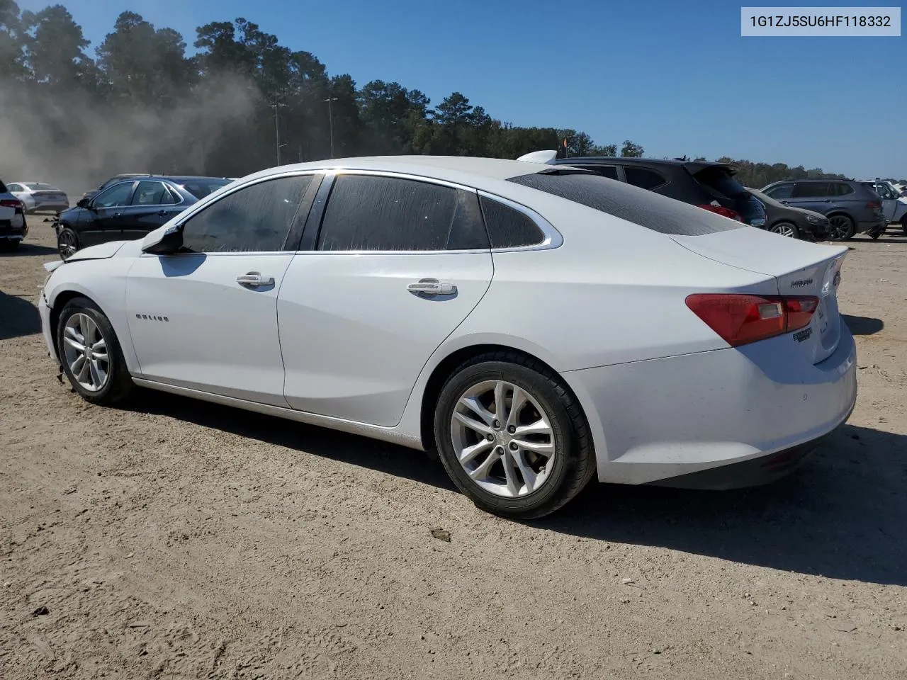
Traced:
<path fill-rule="evenodd" d="M 821 212 L 830 225 L 829 238 L 846 240 L 866 232 L 879 238 L 884 232 L 882 199 L 853 180 L 785 180 L 763 187 L 762 193 L 785 206 Z"/>

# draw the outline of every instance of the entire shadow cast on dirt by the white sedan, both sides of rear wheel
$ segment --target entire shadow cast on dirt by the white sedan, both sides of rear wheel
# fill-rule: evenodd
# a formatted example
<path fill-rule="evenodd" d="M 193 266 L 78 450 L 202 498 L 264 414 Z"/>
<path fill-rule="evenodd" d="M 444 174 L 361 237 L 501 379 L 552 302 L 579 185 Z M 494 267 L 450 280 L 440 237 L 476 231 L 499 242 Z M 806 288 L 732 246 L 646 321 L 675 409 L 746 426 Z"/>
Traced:
<path fill-rule="evenodd" d="M 132 405 L 300 453 L 454 491 L 426 454 L 184 397 Z M 907 586 L 907 436 L 845 425 L 791 476 L 741 491 L 595 481 L 536 529 L 658 546 L 732 562 Z"/>

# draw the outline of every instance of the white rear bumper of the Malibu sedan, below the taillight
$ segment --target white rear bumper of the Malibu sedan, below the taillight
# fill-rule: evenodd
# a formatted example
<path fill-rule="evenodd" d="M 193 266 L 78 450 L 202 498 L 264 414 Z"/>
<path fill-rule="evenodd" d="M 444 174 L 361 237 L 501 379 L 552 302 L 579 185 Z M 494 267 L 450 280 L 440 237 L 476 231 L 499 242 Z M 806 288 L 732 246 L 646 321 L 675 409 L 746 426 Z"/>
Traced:
<path fill-rule="evenodd" d="M 731 488 L 784 473 L 782 461 L 812 448 L 853 412 L 856 349 L 839 323 L 834 353 L 818 364 L 792 351 L 791 335 L 781 335 L 737 349 L 564 374 L 594 416 L 599 480 L 663 483 L 710 471 L 700 477 Z M 738 463 L 746 464 L 718 470 Z M 747 482 L 745 472 L 753 469 L 762 474 Z M 723 475 L 731 480 L 721 481 Z"/>

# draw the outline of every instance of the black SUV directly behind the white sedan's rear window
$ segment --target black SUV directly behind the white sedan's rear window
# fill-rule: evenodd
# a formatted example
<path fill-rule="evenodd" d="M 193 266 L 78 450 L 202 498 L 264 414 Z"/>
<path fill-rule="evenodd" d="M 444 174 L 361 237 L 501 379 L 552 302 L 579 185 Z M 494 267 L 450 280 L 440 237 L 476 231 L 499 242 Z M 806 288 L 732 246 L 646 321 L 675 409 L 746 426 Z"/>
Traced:
<path fill-rule="evenodd" d="M 766 224 L 766 210 L 734 178 L 736 168 L 727 163 L 608 156 L 561 158 L 553 162 L 592 170 L 610 180 L 649 189 L 751 227 L 762 228 Z"/>

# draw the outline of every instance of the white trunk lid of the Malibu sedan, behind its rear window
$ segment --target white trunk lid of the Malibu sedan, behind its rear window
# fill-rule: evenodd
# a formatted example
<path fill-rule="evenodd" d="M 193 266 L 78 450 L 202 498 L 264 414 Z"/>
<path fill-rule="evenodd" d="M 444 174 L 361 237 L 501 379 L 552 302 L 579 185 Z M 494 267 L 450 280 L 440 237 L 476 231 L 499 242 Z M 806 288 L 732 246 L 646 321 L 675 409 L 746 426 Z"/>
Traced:
<path fill-rule="evenodd" d="M 789 335 L 795 341 L 793 348 L 812 364 L 834 352 L 841 339 L 837 287 L 846 247 L 819 246 L 756 228 L 671 238 L 702 257 L 774 277 L 778 295 L 818 297 L 810 324 Z"/>

